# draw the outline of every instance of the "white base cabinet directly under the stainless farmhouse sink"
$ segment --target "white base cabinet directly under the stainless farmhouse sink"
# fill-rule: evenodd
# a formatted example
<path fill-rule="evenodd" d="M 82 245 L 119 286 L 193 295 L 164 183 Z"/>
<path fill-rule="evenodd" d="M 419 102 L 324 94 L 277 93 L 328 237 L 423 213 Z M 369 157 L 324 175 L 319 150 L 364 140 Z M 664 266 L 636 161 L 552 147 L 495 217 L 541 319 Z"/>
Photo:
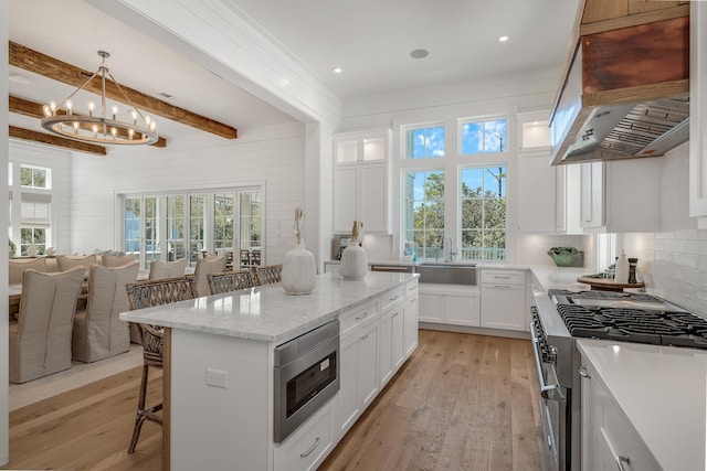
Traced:
<path fill-rule="evenodd" d="M 456 325 L 479 325 L 476 287 L 466 285 L 420 285 L 419 319 Z"/>

